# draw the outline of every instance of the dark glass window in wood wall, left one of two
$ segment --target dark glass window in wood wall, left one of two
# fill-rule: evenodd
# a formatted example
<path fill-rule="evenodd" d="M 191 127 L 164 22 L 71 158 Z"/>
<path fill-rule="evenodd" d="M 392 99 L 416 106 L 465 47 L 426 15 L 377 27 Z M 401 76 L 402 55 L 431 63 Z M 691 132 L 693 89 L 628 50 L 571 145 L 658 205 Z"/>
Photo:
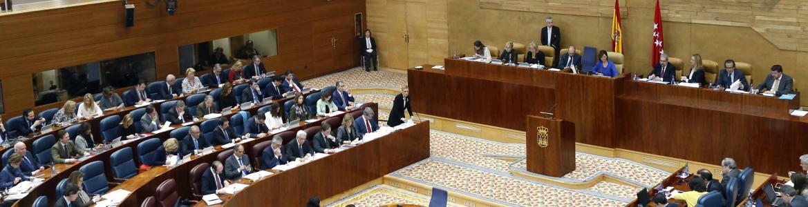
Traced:
<path fill-rule="evenodd" d="M 36 106 L 101 93 L 105 86 L 120 89 L 137 80 L 154 81 L 154 52 L 124 56 L 32 74 Z"/>

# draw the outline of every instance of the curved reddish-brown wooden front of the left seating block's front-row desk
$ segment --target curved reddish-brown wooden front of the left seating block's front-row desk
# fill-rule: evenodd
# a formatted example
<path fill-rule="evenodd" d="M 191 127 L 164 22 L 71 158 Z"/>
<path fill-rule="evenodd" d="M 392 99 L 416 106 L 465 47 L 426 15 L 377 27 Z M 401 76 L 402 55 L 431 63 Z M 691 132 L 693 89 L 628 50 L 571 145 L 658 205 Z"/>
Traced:
<path fill-rule="evenodd" d="M 267 176 L 242 192 L 222 199 L 225 206 L 301 206 L 309 197 L 332 197 L 428 157 L 429 122 L 421 122 Z M 202 201 L 196 206 L 207 205 Z"/>

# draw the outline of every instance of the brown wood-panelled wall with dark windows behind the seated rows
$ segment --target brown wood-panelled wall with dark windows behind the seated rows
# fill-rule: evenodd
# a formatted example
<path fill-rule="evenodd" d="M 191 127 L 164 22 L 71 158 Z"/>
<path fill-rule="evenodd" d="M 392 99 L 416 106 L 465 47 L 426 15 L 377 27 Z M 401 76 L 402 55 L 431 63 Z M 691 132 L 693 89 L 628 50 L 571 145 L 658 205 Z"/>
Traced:
<path fill-rule="evenodd" d="M 0 14 L 0 28 L 12 28 L 0 30 L 6 114 L 33 107 L 35 72 L 154 52 L 156 77 L 163 79 L 179 73 L 179 46 L 269 29 L 278 37 L 278 56 L 264 59 L 269 70 L 292 69 L 306 79 L 359 64 L 350 37 L 353 14 L 364 12 L 364 1 L 195 0 L 180 2 L 173 16 L 162 2 L 129 2 L 136 5 L 134 27 L 124 27 L 120 2 Z M 339 39 L 337 51 L 317 53 L 323 43 L 331 48 L 332 36 Z M 61 103 L 35 109 L 51 106 Z"/>

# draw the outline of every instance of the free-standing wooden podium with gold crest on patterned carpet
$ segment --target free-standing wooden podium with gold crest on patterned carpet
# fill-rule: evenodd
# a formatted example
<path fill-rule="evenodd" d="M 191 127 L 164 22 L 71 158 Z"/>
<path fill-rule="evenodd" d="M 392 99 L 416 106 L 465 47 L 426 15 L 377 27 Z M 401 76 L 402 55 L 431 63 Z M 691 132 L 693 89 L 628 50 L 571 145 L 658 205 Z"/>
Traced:
<path fill-rule="evenodd" d="M 528 171 L 560 177 L 575 170 L 575 125 L 528 115 Z"/>

